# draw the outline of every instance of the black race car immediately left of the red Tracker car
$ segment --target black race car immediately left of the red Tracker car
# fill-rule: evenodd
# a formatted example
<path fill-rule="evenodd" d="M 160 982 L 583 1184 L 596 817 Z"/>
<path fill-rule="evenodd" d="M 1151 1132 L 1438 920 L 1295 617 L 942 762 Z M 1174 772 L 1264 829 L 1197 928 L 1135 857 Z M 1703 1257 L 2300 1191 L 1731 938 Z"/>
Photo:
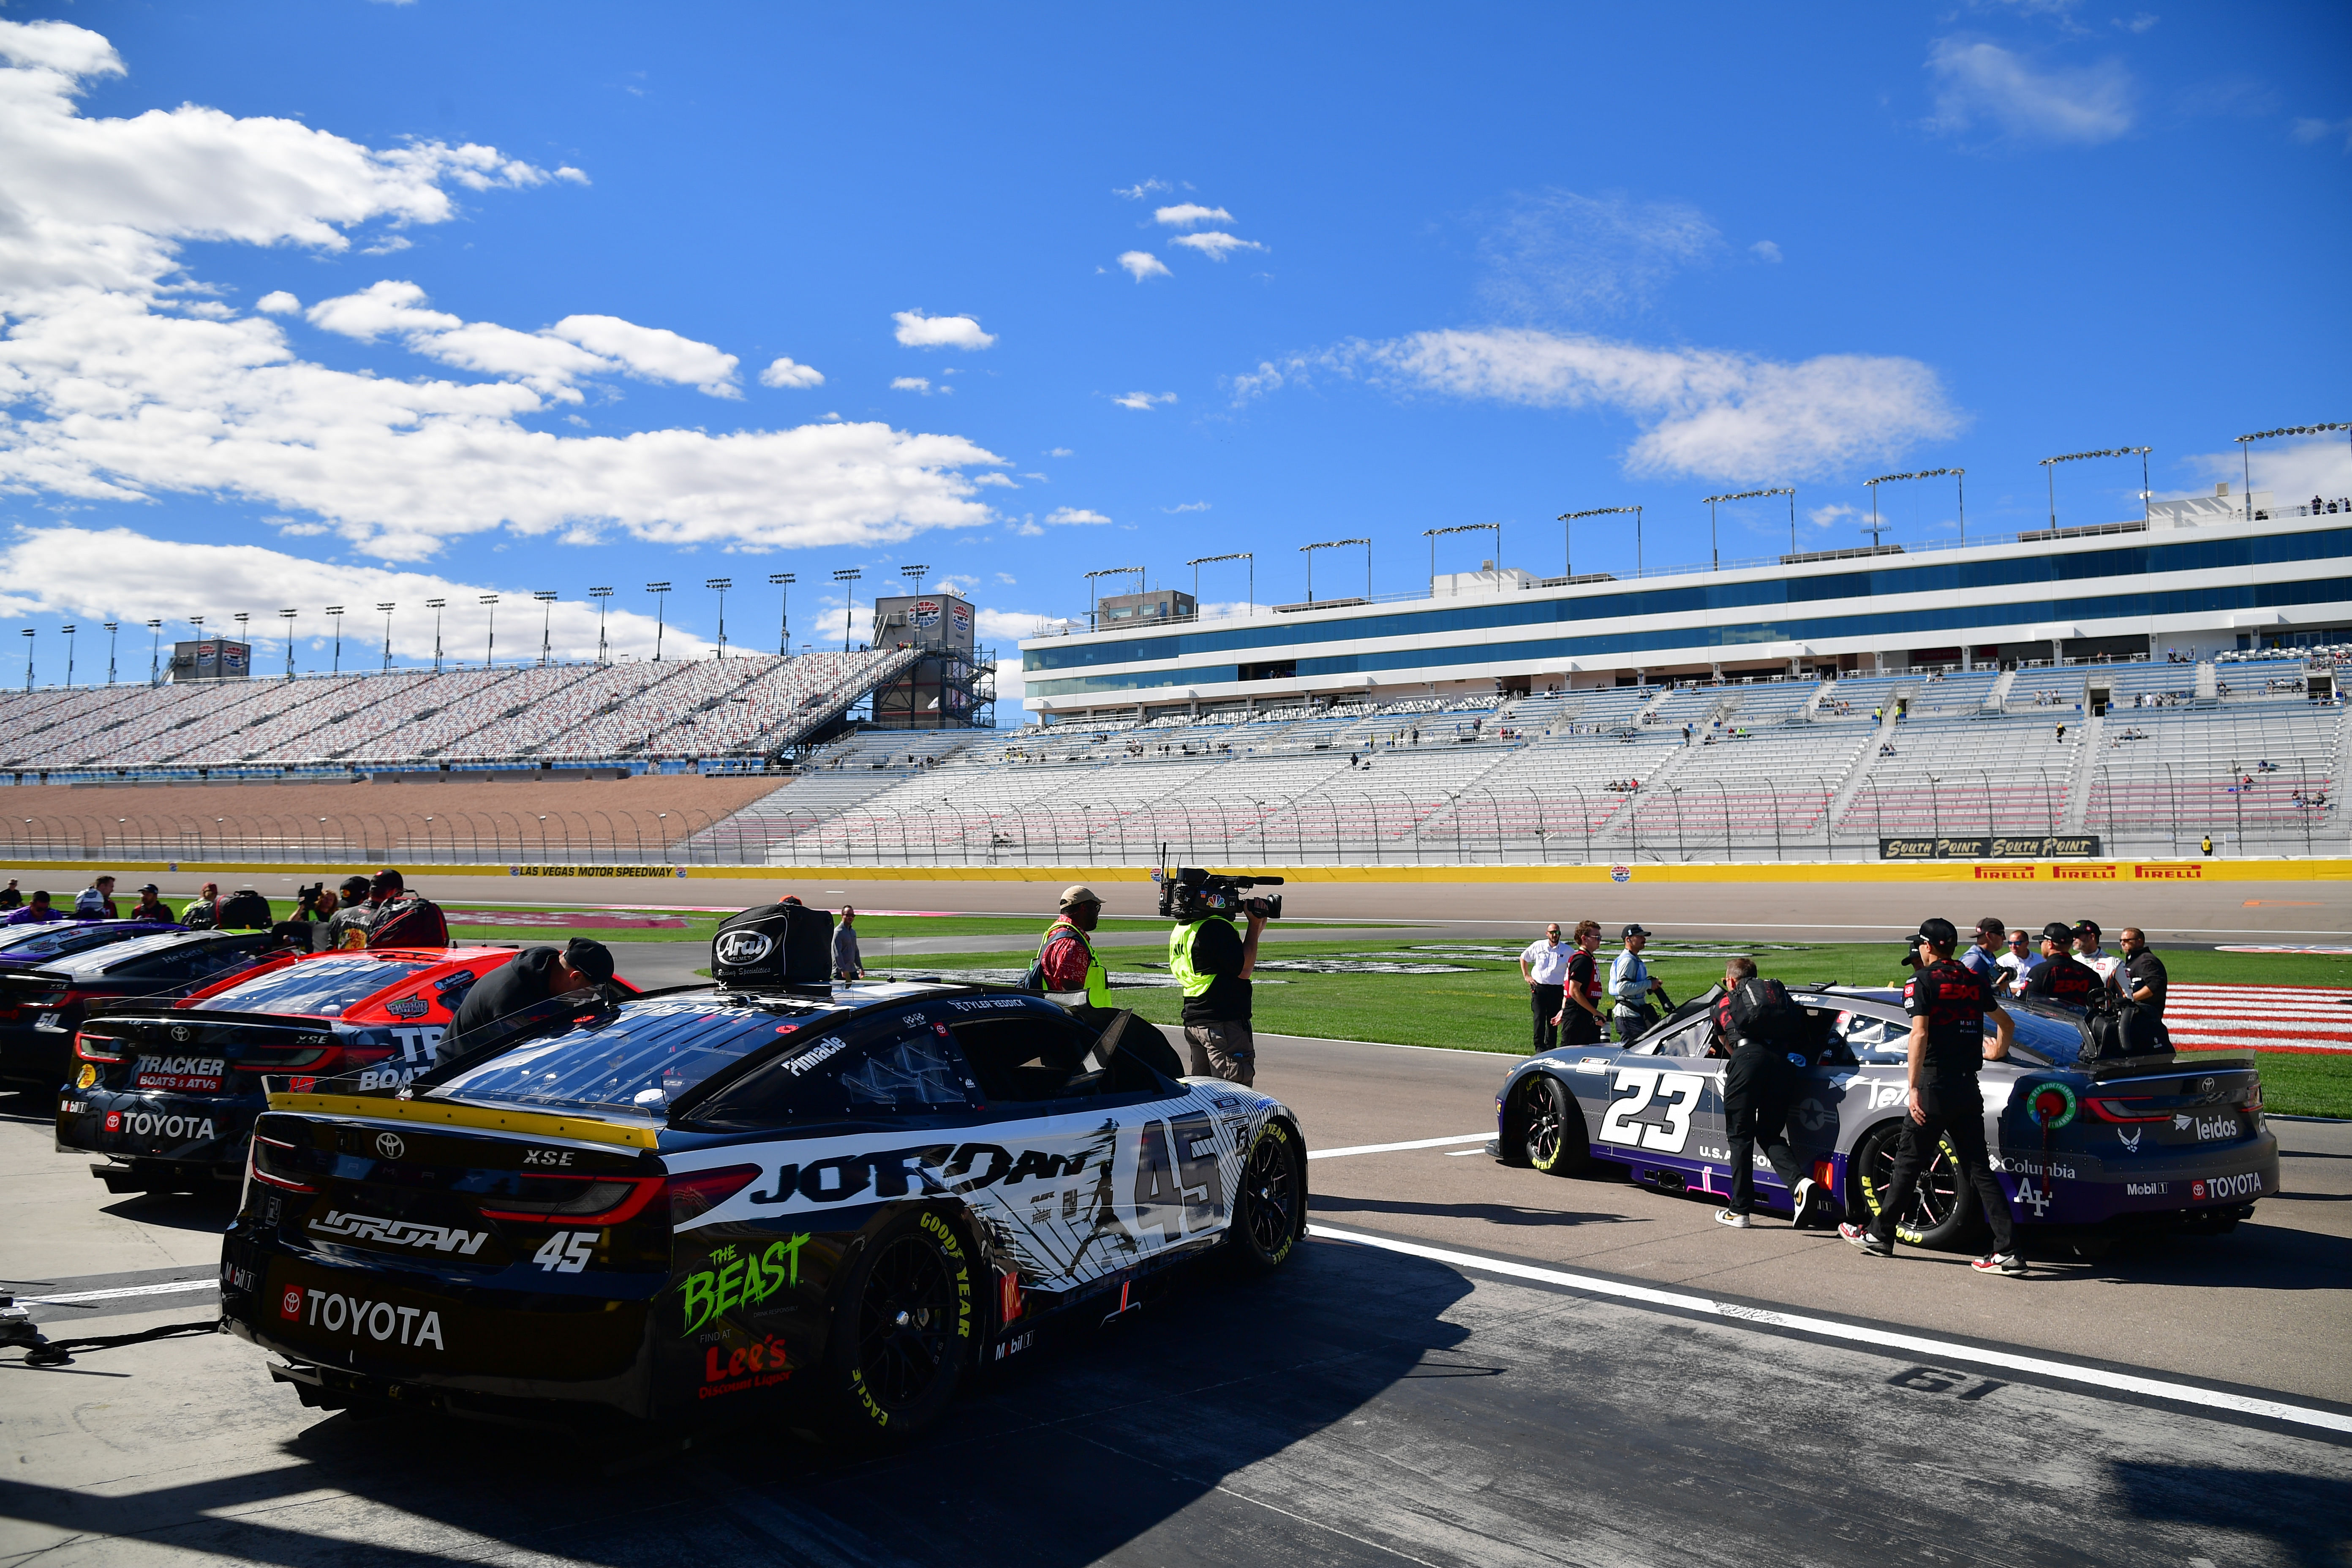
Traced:
<path fill-rule="evenodd" d="M 75 1077 L 73 1032 L 92 1009 L 186 997 L 275 945 L 268 931 L 165 931 L 0 973 L 0 1084 L 66 1084 Z"/>

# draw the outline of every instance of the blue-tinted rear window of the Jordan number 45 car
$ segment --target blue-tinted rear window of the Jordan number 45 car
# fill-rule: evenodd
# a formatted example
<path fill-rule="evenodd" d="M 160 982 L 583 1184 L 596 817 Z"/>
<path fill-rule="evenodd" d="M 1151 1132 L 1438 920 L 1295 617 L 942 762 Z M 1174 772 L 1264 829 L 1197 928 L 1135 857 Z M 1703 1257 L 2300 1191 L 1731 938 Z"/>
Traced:
<path fill-rule="evenodd" d="M 764 1011 L 635 1004 L 466 1067 L 430 1095 L 513 1105 L 593 1105 L 666 1119 L 670 1100 L 795 1030 L 800 1025 Z M 814 1030 L 809 1034 L 809 1044 L 793 1056 L 821 1051 L 828 1041 L 840 1046 L 837 1037 Z"/>

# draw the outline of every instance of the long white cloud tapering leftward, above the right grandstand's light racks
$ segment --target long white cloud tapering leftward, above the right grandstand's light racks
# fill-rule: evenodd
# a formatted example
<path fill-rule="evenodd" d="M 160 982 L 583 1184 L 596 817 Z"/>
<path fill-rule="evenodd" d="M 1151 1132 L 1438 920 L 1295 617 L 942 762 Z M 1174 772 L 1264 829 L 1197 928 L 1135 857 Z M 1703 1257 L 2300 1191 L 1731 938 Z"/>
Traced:
<path fill-rule="evenodd" d="M 1315 374 L 1399 393 L 1616 409 L 1646 425 L 1625 454 L 1632 473 L 1717 480 L 1839 470 L 1947 437 L 1964 423 L 1936 371 L 1917 360 L 1818 355 L 1783 364 L 1526 329 L 1357 339 L 1235 376 L 1235 402 Z"/>

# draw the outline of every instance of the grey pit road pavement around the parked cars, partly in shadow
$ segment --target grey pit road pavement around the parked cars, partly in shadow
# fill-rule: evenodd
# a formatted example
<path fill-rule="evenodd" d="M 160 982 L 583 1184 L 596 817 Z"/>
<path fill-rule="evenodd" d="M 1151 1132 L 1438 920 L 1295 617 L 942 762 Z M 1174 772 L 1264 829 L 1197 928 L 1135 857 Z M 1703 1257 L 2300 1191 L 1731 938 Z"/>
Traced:
<path fill-rule="evenodd" d="M 1484 1135 L 1508 1063 L 1289 1037 L 1261 1037 L 1261 1060 L 1315 1150 Z M 12 1110 L 0 1274 L 49 1293 L 209 1279 L 223 1204 L 111 1199 L 49 1150 L 42 1105 Z M 0 1563 L 2333 1563 L 2352 1128 L 2277 1131 L 2286 1192 L 2237 1234 L 2025 1281 L 1778 1222 L 1729 1232 L 1710 1204 L 1510 1171 L 1477 1143 L 1334 1154 L 1310 1166 L 1324 1232 L 1849 1328 L 1317 1237 L 1268 1284 L 1202 1276 L 1014 1361 L 913 1455 L 866 1465 L 769 1432 L 630 1455 L 306 1413 L 228 1338 L 56 1371 L 9 1356 Z M 40 1316 L 125 1333 L 214 1300 Z M 1985 1347 L 2074 1375 L 1992 1368 Z M 2129 1368 L 2307 1415 L 2114 1394 Z"/>

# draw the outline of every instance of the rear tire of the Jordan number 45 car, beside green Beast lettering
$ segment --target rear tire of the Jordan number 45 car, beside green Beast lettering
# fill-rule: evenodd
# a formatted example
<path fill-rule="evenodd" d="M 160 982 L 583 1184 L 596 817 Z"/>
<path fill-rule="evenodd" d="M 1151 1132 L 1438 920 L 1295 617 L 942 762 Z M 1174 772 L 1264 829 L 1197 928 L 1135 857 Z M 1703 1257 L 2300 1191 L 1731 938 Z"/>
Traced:
<path fill-rule="evenodd" d="M 833 1309 L 823 1387 L 830 1436 L 903 1448 L 938 1420 L 971 1361 L 971 1246 L 924 1208 L 866 1246 Z"/>

